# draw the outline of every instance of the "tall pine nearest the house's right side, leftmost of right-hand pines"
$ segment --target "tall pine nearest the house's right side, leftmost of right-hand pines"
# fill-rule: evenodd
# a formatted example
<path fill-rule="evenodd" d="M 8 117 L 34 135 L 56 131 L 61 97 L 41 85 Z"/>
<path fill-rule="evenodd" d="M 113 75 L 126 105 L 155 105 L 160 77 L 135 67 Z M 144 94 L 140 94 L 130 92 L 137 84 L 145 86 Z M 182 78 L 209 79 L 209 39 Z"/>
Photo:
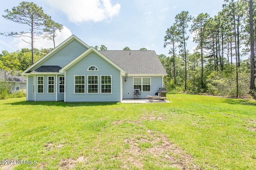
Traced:
<path fill-rule="evenodd" d="M 180 41 L 180 33 L 177 26 L 174 24 L 165 31 L 166 35 L 164 36 L 164 48 L 166 45 L 170 45 L 171 49 L 169 54 L 172 55 L 172 66 L 173 66 L 173 76 L 174 84 L 176 85 L 176 71 L 175 71 L 175 56 L 176 56 L 176 45 Z"/>

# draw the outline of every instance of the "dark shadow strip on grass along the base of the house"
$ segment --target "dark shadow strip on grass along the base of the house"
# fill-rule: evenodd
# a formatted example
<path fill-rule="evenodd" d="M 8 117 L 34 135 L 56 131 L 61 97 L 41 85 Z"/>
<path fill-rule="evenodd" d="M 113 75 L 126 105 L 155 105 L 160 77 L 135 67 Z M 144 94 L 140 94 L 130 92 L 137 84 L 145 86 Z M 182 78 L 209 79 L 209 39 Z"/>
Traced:
<path fill-rule="evenodd" d="M 61 106 L 61 107 L 77 107 L 77 106 L 110 106 L 117 105 L 120 102 L 31 102 L 31 101 L 22 101 L 22 102 L 14 102 L 7 103 L 6 105 L 30 105 L 30 106 Z"/>

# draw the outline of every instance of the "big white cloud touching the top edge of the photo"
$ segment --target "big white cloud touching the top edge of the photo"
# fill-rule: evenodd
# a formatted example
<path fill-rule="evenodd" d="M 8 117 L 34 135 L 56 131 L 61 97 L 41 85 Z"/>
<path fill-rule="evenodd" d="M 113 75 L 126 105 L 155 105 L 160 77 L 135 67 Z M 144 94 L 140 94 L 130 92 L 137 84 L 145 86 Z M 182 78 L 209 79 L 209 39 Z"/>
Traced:
<path fill-rule="evenodd" d="M 47 0 L 53 8 L 62 11 L 70 22 L 80 24 L 85 21 L 99 22 L 116 16 L 120 4 L 111 0 Z"/>

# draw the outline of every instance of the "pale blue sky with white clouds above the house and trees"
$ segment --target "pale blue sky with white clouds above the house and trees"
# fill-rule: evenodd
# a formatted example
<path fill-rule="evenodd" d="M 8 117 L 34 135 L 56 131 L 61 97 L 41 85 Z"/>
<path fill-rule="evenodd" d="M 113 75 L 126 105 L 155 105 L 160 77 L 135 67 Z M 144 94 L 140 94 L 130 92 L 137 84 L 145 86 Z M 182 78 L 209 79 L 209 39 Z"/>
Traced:
<path fill-rule="evenodd" d="M 14 23 L 2 17 L 4 10 L 18 6 L 21 0 L 0 0 L 0 32 L 27 31 L 27 25 Z M 168 56 L 164 48 L 164 35 L 182 11 L 197 16 L 208 13 L 211 17 L 222 10 L 224 0 L 32 0 L 58 23 L 64 25 L 56 37 L 56 44 L 76 35 L 89 46 L 105 45 L 108 50 L 142 47 Z M 187 48 L 196 46 L 190 36 Z M 9 52 L 30 48 L 24 38 L 0 35 L 0 51 Z M 53 47 L 52 41 L 37 39 L 35 48 Z"/>

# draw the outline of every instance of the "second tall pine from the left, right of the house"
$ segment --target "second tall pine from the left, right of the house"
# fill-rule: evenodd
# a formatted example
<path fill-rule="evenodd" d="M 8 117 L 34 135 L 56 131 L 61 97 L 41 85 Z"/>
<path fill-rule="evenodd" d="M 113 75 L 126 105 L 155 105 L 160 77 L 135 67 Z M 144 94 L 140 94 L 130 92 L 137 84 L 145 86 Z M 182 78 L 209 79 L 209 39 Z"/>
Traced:
<path fill-rule="evenodd" d="M 186 51 L 186 41 L 188 40 L 188 36 L 186 37 L 188 22 L 192 20 L 192 16 L 189 15 L 188 11 L 182 11 L 180 14 L 175 16 L 175 21 L 180 35 L 180 48 L 181 52 L 184 54 L 185 60 L 185 90 L 187 89 L 187 51 Z"/>

